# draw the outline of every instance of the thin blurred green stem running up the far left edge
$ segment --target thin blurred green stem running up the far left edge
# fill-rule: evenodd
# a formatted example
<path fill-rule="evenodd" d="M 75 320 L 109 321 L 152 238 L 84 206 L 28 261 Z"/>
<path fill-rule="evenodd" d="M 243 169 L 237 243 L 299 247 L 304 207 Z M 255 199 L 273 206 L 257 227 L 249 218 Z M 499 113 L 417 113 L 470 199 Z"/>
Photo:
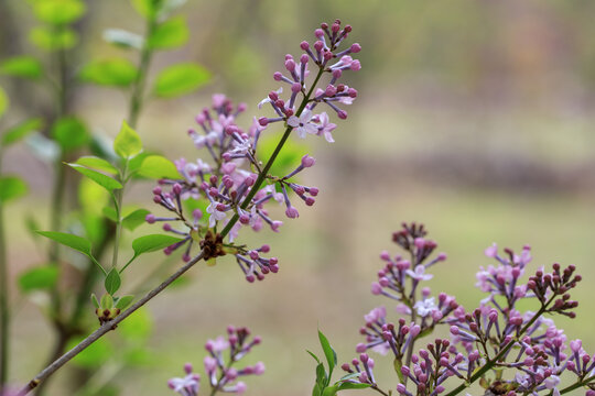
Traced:
<path fill-rule="evenodd" d="M 0 147 L 0 175 L 2 174 L 2 147 Z M 8 295 L 7 245 L 4 235 L 4 205 L 0 200 L 0 393 L 8 378 L 10 310 Z"/>

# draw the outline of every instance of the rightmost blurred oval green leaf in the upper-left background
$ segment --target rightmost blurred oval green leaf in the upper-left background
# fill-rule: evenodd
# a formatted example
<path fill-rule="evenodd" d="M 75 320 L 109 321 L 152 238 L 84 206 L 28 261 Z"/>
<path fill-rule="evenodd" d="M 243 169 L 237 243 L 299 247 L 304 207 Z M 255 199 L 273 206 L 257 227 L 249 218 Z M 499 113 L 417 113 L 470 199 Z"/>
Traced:
<path fill-rule="evenodd" d="M 156 77 L 153 91 L 161 98 L 190 94 L 210 80 L 210 73 L 201 65 L 178 64 L 164 68 Z"/>

